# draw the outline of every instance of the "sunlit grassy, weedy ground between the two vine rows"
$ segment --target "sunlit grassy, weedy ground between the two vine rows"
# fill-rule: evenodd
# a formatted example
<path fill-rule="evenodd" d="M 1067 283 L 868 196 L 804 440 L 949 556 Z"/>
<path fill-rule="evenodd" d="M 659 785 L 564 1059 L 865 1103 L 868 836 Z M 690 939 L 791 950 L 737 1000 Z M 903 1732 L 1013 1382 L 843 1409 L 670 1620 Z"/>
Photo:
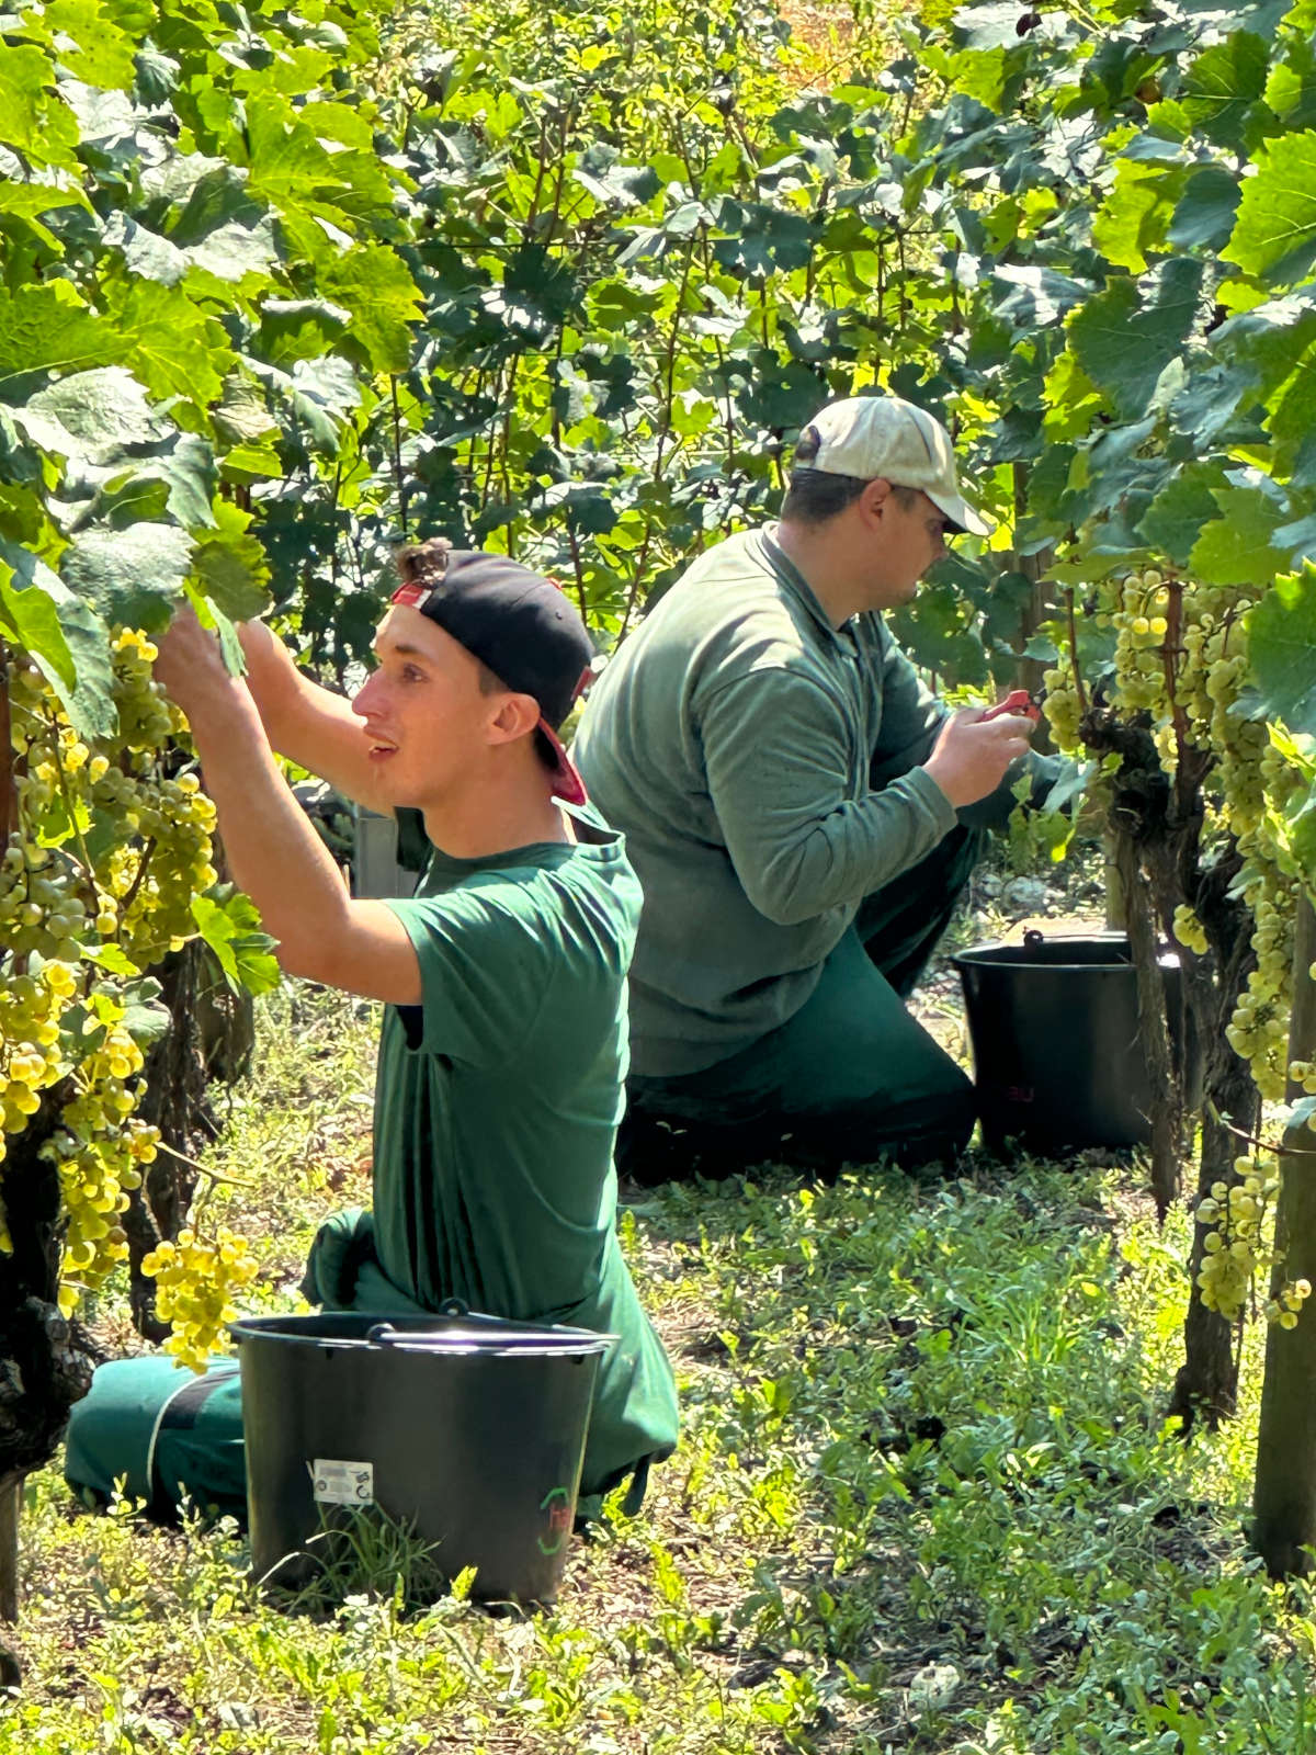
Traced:
<path fill-rule="evenodd" d="M 288 1309 L 365 1195 L 368 1007 L 277 995 L 256 1064 L 211 1199 Z M 1160 1415 L 1183 1225 L 1088 1162 L 656 1190 L 621 1228 L 684 1437 L 553 1613 L 426 1594 L 400 1532 L 275 1604 L 232 1522 L 88 1516 L 49 1471 L 0 1755 L 1316 1748 L 1316 1616 L 1242 1534 L 1256 1411 L 1186 1444 Z"/>

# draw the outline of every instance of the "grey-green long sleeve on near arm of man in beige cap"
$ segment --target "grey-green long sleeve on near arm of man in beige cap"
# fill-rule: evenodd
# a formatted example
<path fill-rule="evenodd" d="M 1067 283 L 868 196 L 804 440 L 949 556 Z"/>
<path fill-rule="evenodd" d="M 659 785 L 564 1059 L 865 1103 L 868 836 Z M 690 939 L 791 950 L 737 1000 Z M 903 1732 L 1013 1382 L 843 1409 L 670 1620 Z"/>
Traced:
<path fill-rule="evenodd" d="M 702 704 L 698 730 L 735 874 L 777 925 L 858 906 L 955 827 L 921 767 L 869 792 L 867 751 L 853 748 L 840 704 L 797 672 L 723 684 Z"/>

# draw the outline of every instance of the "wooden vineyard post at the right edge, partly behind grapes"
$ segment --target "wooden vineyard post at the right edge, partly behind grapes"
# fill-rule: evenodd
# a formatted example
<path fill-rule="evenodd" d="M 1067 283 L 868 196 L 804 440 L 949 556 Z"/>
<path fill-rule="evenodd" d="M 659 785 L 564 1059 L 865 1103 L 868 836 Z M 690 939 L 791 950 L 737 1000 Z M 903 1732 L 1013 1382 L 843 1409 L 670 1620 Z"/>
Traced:
<path fill-rule="evenodd" d="M 1290 1060 L 1316 1053 L 1316 911 L 1298 902 L 1293 948 L 1293 1013 Z M 1300 1092 L 1290 1086 L 1290 1099 Z M 1316 1285 L 1316 1132 L 1295 1121 L 1279 1151 L 1276 1255 L 1272 1295 L 1286 1281 Z M 1265 1343 L 1262 1422 L 1256 1434 L 1253 1546 L 1272 1578 L 1311 1569 L 1316 1548 L 1316 1304 L 1297 1327 L 1270 1325 Z"/>

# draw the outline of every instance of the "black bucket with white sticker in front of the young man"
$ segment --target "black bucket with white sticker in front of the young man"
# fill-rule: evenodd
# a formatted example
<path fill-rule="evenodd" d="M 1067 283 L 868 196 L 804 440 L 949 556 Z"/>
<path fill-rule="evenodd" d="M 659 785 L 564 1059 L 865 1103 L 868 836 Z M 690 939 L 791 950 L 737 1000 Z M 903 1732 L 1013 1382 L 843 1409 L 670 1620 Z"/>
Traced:
<path fill-rule="evenodd" d="M 442 1576 L 474 1565 L 477 1601 L 554 1599 L 612 1336 L 449 1306 L 251 1316 L 233 1337 L 258 1578 L 314 1578 L 307 1543 L 375 1506 L 414 1529 Z"/>

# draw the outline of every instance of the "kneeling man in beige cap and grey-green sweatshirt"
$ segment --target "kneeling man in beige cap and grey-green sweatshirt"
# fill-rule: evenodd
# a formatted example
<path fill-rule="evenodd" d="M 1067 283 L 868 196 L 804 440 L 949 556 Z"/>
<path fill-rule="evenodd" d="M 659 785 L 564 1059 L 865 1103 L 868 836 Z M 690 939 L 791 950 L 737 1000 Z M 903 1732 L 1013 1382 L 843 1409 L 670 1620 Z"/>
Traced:
<path fill-rule="evenodd" d="M 986 526 L 930 414 L 832 404 L 781 521 L 697 560 L 590 695 L 572 755 L 644 888 L 640 1179 L 946 1160 L 972 1130 L 904 995 L 981 851 L 960 813 L 1002 795 L 1032 725 L 946 713 L 881 618 L 960 530 Z"/>

